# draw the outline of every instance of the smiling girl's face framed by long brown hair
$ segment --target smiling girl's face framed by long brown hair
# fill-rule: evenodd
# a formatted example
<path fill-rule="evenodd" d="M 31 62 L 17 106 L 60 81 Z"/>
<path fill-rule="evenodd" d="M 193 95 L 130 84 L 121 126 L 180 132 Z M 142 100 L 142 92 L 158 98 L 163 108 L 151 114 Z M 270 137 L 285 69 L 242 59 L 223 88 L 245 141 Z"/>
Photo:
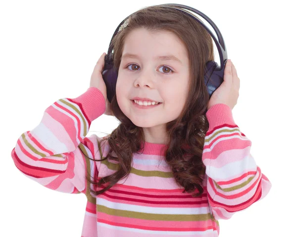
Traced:
<path fill-rule="evenodd" d="M 164 56 L 176 59 L 158 59 Z M 173 33 L 150 33 L 141 28 L 126 37 L 116 96 L 121 111 L 135 125 L 158 132 L 162 125 L 178 118 L 188 95 L 189 80 L 187 50 Z M 132 100 L 134 97 L 161 104 L 141 109 Z"/>

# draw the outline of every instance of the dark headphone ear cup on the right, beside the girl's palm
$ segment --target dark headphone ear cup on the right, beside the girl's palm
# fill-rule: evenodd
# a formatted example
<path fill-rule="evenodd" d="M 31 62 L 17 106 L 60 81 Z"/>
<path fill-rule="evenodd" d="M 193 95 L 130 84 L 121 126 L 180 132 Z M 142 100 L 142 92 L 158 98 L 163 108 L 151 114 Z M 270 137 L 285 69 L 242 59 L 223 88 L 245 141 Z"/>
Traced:
<path fill-rule="evenodd" d="M 204 84 L 206 89 L 211 97 L 212 93 L 219 88 L 219 86 L 224 81 L 224 71 L 226 66 L 227 59 L 224 61 L 223 67 L 220 69 L 220 66 L 215 61 L 206 62 L 205 72 L 204 72 Z"/>

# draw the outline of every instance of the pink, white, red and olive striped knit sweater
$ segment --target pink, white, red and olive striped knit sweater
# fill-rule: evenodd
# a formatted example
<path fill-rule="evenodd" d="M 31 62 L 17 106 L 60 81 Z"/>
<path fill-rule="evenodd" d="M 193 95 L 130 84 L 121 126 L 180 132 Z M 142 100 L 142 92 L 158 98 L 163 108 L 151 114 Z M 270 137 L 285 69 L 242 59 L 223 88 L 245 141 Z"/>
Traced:
<path fill-rule="evenodd" d="M 11 152 L 15 166 L 28 178 L 56 191 L 86 195 L 82 237 L 217 237 L 219 219 L 231 218 L 271 188 L 231 109 L 217 104 L 206 113 L 201 196 L 183 193 L 162 160 L 165 145 L 149 142 L 142 154 L 133 154 L 129 176 L 95 196 L 86 176 L 98 180 L 117 169 L 115 161 L 89 159 L 99 160 L 109 149 L 107 141 L 99 146 L 102 138 L 86 136 L 104 111 L 104 97 L 95 87 L 75 99 L 60 99 L 46 109 L 38 126 L 20 135 Z"/>

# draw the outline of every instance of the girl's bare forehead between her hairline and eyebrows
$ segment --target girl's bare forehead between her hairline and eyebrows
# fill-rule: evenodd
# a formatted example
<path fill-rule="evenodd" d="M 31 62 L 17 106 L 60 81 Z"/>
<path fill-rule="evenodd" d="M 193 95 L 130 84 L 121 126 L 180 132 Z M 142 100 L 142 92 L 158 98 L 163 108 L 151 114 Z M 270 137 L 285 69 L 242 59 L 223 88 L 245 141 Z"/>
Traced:
<path fill-rule="evenodd" d="M 145 28 L 131 31 L 124 41 L 122 55 L 137 55 L 138 58 L 175 59 L 185 63 L 188 59 L 184 43 L 172 32 L 150 32 Z M 169 58 L 166 57 L 169 56 Z"/>

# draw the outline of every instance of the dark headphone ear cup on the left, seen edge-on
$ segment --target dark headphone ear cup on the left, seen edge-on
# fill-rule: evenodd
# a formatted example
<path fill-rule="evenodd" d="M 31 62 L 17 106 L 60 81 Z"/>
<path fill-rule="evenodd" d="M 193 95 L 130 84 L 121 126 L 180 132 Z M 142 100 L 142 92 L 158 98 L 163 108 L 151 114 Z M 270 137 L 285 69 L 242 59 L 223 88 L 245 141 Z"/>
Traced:
<path fill-rule="evenodd" d="M 117 71 L 113 67 L 112 54 L 105 55 L 102 78 L 106 85 L 106 94 L 109 103 L 111 103 L 112 98 L 115 96 L 115 86 L 118 76 Z"/>

